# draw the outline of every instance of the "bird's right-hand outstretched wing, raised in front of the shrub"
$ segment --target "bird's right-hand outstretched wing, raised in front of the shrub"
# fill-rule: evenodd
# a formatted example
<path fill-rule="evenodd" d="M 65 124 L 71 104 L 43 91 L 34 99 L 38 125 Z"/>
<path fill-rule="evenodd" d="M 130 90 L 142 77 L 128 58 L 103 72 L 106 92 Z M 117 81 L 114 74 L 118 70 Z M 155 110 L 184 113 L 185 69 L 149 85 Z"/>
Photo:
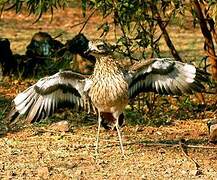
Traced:
<path fill-rule="evenodd" d="M 202 81 L 208 81 L 208 73 L 195 66 L 170 58 L 156 58 L 138 65 L 129 82 L 129 97 L 148 91 L 166 95 L 202 92 Z"/>

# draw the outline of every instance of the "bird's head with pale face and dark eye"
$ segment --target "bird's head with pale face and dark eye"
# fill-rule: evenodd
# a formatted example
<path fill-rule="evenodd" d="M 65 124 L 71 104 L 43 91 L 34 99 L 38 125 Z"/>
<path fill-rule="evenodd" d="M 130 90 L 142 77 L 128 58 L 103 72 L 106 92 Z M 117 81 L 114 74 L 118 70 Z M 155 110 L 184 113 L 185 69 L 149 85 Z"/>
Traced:
<path fill-rule="evenodd" d="M 85 53 L 91 54 L 93 56 L 97 55 L 108 55 L 112 52 L 108 43 L 102 40 L 89 41 L 88 49 Z"/>

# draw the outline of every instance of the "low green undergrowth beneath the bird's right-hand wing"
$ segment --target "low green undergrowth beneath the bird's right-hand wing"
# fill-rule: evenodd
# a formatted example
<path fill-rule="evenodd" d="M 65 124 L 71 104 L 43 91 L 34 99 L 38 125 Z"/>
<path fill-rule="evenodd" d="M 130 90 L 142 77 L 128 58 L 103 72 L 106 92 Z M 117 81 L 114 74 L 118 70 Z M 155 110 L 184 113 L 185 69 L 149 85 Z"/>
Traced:
<path fill-rule="evenodd" d="M 165 126 L 170 125 L 174 120 L 199 119 L 204 117 L 206 108 L 213 109 L 203 104 L 194 103 L 192 97 L 170 97 L 156 95 L 155 98 L 148 98 L 145 95 L 146 104 L 142 99 L 128 106 L 125 115 L 127 122 L 131 125 Z M 194 97 L 195 98 L 195 97 Z"/>

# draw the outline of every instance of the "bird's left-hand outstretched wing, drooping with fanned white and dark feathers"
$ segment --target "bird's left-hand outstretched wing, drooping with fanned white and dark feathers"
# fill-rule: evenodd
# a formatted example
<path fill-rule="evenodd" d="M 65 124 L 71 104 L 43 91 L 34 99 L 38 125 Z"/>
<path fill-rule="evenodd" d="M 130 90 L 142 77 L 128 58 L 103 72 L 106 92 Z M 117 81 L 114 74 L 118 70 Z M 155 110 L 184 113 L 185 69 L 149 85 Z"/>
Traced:
<path fill-rule="evenodd" d="M 29 123 L 39 121 L 66 104 L 85 108 L 86 80 L 86 76 L 72 71 L 62 71 L 40 79 L 15 97 L 8 115 L 9 122 L 18 120 L 20 115 L 24 115 Z"/>

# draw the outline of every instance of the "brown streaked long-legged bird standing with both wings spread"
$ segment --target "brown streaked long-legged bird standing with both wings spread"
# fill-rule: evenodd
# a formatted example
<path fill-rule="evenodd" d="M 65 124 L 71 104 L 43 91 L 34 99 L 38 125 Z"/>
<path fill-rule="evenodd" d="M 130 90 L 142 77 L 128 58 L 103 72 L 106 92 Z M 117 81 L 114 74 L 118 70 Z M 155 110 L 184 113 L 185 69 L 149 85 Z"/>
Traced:
<path fill-rule="evenodd" d="M 101 123 L 106 117 L 106 125 L 117 130 L 124 156 L 120 126 L 129 99 L 150 91 L 168 95 L 203 92 L 202 82 L 208 81 L 207 73 L 171 58 L 144 60 L 126 70 L 105 41 L 89 41 L 84 54 L 96 58 L 92 75 L 61 71 L 40 79 L 12 101 L 9 122 L 13 123 L 19 116 L 24 116 L 26 122 L 39 121 L 65 103 L 93 109 L 98 115 L 95 153 L 98 154 Z"/>

